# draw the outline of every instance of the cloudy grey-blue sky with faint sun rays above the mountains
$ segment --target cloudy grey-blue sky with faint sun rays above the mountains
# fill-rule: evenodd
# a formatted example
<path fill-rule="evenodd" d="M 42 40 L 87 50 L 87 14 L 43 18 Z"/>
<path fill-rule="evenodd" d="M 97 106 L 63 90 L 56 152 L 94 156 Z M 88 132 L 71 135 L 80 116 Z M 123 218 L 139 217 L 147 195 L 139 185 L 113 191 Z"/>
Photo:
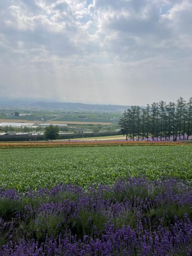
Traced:
<path fill-rule="evenodd" d="M 0 98 L 192 96 L 192 0 L 0 0 Z"/>

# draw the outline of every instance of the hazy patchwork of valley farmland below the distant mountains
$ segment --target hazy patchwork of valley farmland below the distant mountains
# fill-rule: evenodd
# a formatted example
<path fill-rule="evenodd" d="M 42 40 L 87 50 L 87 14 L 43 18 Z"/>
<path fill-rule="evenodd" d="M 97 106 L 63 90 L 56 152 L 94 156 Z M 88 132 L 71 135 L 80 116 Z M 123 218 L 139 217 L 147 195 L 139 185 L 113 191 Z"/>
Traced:
<path fill-rule="evenodd" d="M 22 116 L 6 116 L 18 111 Z M 82 126 L 82 128 L 92 128 L 93 125 L 100 125 L 104 130 L 105 126 L 110 129 L 117 129 L 118 118 L 121 111 L 74 111 L 74 110 L 36 110 L 36 109 L 0 109 L 0 122 L 25 122 L 38 123 L 43 118 L 46 123 L 68 124 L 72 128 Z M 26 116 L 27 115 L 27 116 Z M 49 121 L 54 120 L 54 121 Z M 111 126 L 112 125 L 112 126 Z"/>

